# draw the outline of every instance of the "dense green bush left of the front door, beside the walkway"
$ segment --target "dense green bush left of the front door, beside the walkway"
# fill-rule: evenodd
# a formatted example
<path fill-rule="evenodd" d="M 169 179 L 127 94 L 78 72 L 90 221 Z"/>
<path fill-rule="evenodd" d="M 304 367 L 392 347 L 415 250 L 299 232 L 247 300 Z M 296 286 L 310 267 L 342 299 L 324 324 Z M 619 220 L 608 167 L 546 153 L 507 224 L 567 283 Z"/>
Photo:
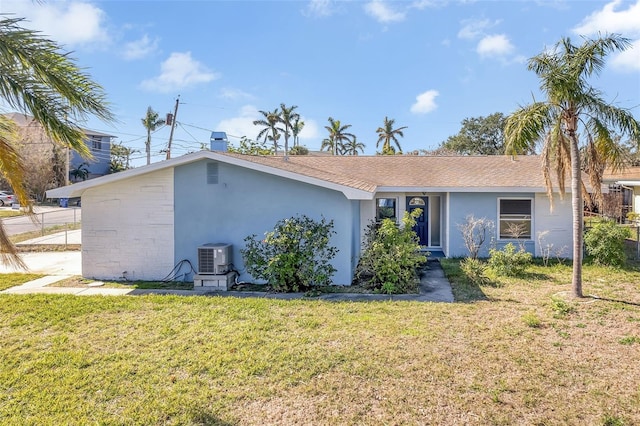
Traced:
<path fill-rule="evenodd" d="M 427 258 L 412 228 L 421 213 L 420 209 L 405 212 L 401 226 L 391 219 L 369 225 L 356 269 L 356 280 L 362 286 L 387 294 L 418 291 L 418 268 Z"/>

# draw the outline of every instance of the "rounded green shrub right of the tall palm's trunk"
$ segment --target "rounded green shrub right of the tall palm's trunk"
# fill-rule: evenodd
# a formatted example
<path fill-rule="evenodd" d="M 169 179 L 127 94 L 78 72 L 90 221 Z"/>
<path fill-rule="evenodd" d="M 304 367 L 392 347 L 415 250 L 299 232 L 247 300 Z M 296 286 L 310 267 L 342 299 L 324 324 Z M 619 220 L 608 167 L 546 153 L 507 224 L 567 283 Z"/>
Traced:
<path fill-rule="evenodd" d="M 612 220 L 598 222 L 584 236 L 587 253 L 593 262 L 605 266 L 622 266 L 627 261 L 624 240 L 630 237 L 628 228 Z"/>

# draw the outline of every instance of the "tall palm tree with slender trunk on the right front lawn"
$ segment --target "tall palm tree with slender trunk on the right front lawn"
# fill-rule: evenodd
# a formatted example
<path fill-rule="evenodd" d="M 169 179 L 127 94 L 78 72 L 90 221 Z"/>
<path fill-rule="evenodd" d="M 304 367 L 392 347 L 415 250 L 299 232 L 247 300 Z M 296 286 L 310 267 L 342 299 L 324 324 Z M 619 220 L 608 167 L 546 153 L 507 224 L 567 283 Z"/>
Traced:
<path fill-rule="evenodd" d="M 507 118 L 505 145 L 507 153 L 521 153 L 538 141 L 543 142 L 543 175 L 547 193 L 553 196 L 551 176 L 558 181 L 560 195 L 564 193 L 565 179 L 571 176 L 573 208 L 573 274 L 572 290 L 575 297 L 582 295 L 582 242 L 583 242 L 583 190 L 580 159 L 581 142 L 589 168 L 591 187 L 600 189 L 602 174 L 597 170 L 609 165 L 616 169 L 622 165 L 622 150 L 612 133 L 615 129 L 640 142 L 640 123 L 631 113 L 604 101 L 601 93 L 587 81 L 588 77 L 604 67 L 604 58 L 614 51 L 623 51 L 629 41 L 617 35 L 596 40 L 586 39 L 574 46 L 563 38 L 555 49 L 529 59 L 528 69 L 540 79 L 540 89 L 546 100 L 519 108 Z M 579 129 L 582 125 L 582 129 Z M 580 130 L 580 131 L 579 131 Z"/>

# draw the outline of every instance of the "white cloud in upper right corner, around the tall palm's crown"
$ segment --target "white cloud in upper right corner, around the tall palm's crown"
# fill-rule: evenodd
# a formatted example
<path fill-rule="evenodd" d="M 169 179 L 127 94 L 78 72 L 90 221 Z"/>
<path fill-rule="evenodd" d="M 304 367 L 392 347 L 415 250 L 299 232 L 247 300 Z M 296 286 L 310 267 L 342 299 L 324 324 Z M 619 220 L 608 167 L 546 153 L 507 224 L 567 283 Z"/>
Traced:
<path fill-rule="evenodd" d="M 573 29 L 576 34 L 593 36 L 603 33 L 618 33 L 634 39 L 631 47 L 611 59 L 611 65 L 621 71 L 640 70 L 640 0 L 619 10 L 623 2 L 614 0 L 593 12 Z"/>

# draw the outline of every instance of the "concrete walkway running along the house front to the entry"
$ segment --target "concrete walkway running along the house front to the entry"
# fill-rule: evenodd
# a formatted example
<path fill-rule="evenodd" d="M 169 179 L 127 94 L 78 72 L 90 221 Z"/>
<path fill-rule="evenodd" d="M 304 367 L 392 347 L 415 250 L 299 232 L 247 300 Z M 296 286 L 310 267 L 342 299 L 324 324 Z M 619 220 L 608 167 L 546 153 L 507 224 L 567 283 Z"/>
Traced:
<path fill-rule="evenodd" d="M 68 254 L 69 252 L 62 252 Z M 34 254 L 34 253 L 29 253 Z M 52 253 L 47 253 L 51 255 Z M 61 253 L 56 253 L 61 254 Z M 76 252 L 74 254 L 80 254 Z M 0 271 L 2 272 L 2 271 Z M 35 272 L 35 271 L 34 271 Z M 206 290 L 164 290 L 164 289 L 128 289 L 128 288 L 106 288 L 101 287 L 100 282 L 96 282 L 94 286 L 89 287 L 49 287 L 49 284 L 64 280 L 75 274 L 58 273 L 56 275 L 47 275 L 43 278 L 27 282 L 20 286 L 11 287 L 0 293 L 4 294 L 73 294 L 77 296 L 123 296 L 123 295 L 144 295 L 144 294 L 173 294 L 179 296 L 221 296 L 221 297 L 257 297 L 266 299 L 280 300 L 328 300 L 328 301 L 416 301 L 416 302 L 453 302 L 453 293 L 451 285 L 444 276 L 444 271 L 440 266 L 440 262 L 433 260 L 429 262 L 427 269 L 420 280 L 419 294 L 360 294 L 360 293 L 329 293 L 320 294 L 314 297 L 305 297 L 304 293 L 264 293 L 264 292 L 248 292 L 248 291 L 206 291 Z"/>

